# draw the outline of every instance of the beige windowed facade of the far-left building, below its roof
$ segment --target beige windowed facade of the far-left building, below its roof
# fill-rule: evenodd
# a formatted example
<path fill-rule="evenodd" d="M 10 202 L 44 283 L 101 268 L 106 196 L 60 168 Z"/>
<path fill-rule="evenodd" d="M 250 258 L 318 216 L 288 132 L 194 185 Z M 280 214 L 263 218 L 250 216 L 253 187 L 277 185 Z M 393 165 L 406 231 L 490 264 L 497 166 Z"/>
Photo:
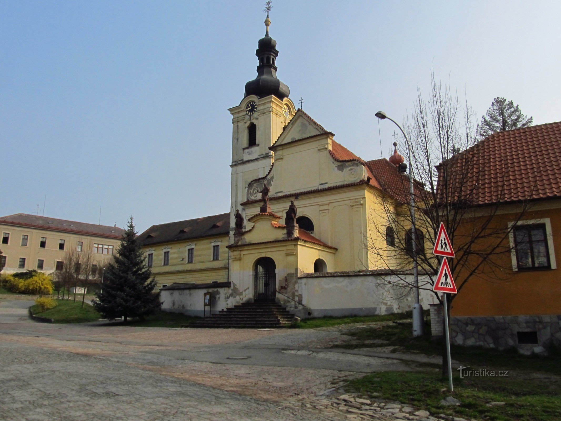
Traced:
<path fill-rule="evenodd" d="M 121 238 L 107 238 L 93 235 L 73 234 L 71 232 L 44 230 L 41 228 L 22 227 L 0 223 L 0 235 L 4 232 L 10 233 L 9 244 L 0 244 L 2 255 L 6 256 L 6 267 L 2 273 L 22 272 L 30 269 L 37 269 L 37 260 L 43 259 L 44 265 L 42 272 L 52 273 L 56 268 L 57 260 L 64 260 L 68 250 L 76 250 L 77 242 L 82 241 L 82 250 L 93 249 L 93 244 L 112 245 L 113 253 L 117 252 Z M 29 236 L 27 246 L 21 245 L 22 235 Z M 47 246 L 40 248 L 41 237 L 47 238 Z M 59 250 L 59 240 L 65 240 L 65 250 Z M 104 263 L 112 259 L 106 254 L 94 254 L 94 262 Z M 19 268 L 19 259 L 25 258 L 25 268 Z"/>

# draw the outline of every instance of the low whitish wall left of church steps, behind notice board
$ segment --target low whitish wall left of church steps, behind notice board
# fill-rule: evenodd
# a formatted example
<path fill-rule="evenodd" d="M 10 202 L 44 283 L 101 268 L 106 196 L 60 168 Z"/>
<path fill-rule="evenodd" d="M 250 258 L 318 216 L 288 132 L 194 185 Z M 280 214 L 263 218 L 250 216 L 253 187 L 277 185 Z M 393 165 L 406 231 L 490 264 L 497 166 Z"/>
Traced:
<path fill-rule="evenodd" d="M 162 310 L 165 312 L 183 313 L 203 317 L 204 295 L 210 292 L 210 310 L 218 313 L 226 310 L 226 296 L 229 288 L 199 288 L 194 290 L 162 290 L 160 291 L 160 301 Z M 206 315 L 209 315 L 209 308 L 206 308 Z"/>

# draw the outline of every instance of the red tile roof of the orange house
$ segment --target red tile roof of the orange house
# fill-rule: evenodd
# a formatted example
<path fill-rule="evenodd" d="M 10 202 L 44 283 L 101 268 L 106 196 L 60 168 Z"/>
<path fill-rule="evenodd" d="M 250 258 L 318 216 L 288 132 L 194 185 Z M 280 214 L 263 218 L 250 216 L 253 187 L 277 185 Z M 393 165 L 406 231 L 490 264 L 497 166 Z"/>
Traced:
<path fill-rule="evenodd" d="M 558 198 L 560 162 L 561 122 L 497 132 L 449 159 L 449 191 L 456 188 L 456 196 L 472 205 Z"/>

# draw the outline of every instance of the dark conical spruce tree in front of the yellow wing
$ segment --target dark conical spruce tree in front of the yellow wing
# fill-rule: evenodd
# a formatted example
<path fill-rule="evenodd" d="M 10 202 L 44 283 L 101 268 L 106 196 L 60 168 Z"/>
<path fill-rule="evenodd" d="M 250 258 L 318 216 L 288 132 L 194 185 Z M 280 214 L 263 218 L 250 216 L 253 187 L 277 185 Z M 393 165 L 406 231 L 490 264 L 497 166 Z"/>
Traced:
<path fill-rule="evenodd" d="M 136 234 L 131 216 L 114 262 L 105 269 L 102 291 L 91 303 L 109 320 L 145 318 L 160 308 L 159 295 L 154 291 L 157 283 L 155 278 L 150 280 L 150 268 Z"/>

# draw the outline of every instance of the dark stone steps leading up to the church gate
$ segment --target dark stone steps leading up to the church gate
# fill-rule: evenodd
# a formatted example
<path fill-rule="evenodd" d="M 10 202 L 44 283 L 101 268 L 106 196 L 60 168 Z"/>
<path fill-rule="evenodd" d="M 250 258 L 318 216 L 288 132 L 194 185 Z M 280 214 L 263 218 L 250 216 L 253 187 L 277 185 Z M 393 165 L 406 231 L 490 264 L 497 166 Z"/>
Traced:
<path fill-rule="evenodd" d="M 293 315 L 282 305 L 272 302 L 243 303 L 220 310 L 185 327 L 212 328 L 278 328 L 292 323 Z"/>

